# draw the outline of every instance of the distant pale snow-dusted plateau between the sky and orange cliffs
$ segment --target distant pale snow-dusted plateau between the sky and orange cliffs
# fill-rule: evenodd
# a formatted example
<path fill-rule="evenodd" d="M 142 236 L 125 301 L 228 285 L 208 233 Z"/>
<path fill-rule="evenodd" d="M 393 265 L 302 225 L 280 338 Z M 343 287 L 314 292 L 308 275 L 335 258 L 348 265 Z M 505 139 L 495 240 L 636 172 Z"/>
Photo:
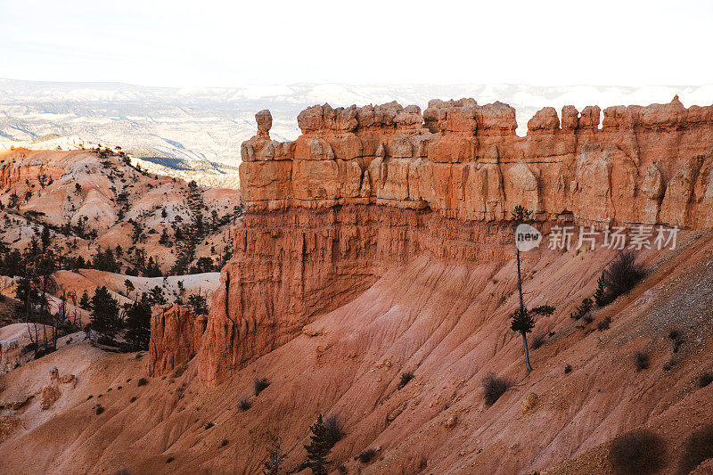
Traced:
<path fill-rule="evenodd" d="M 254 114 L 272 111 L 276 140 L 299 135 L 299 111 L 317 103 L 333 107 L 397 101 L 424 109 L 430 99 L 473 97 L 507 102 L 517 110 L 518 133 L 545 106 L 713 102 L 708 86 L 524 86 L 295 84 L 178 88 L 119 83 L 58 83 L 0 78 L 0 139 L 37 141 L 77 135 L 86 143 L 120 145 L 152 162 L 151 171 L 198 176 L 204 184 L 236 184 L 240 144 L 255 132 Z"/>

